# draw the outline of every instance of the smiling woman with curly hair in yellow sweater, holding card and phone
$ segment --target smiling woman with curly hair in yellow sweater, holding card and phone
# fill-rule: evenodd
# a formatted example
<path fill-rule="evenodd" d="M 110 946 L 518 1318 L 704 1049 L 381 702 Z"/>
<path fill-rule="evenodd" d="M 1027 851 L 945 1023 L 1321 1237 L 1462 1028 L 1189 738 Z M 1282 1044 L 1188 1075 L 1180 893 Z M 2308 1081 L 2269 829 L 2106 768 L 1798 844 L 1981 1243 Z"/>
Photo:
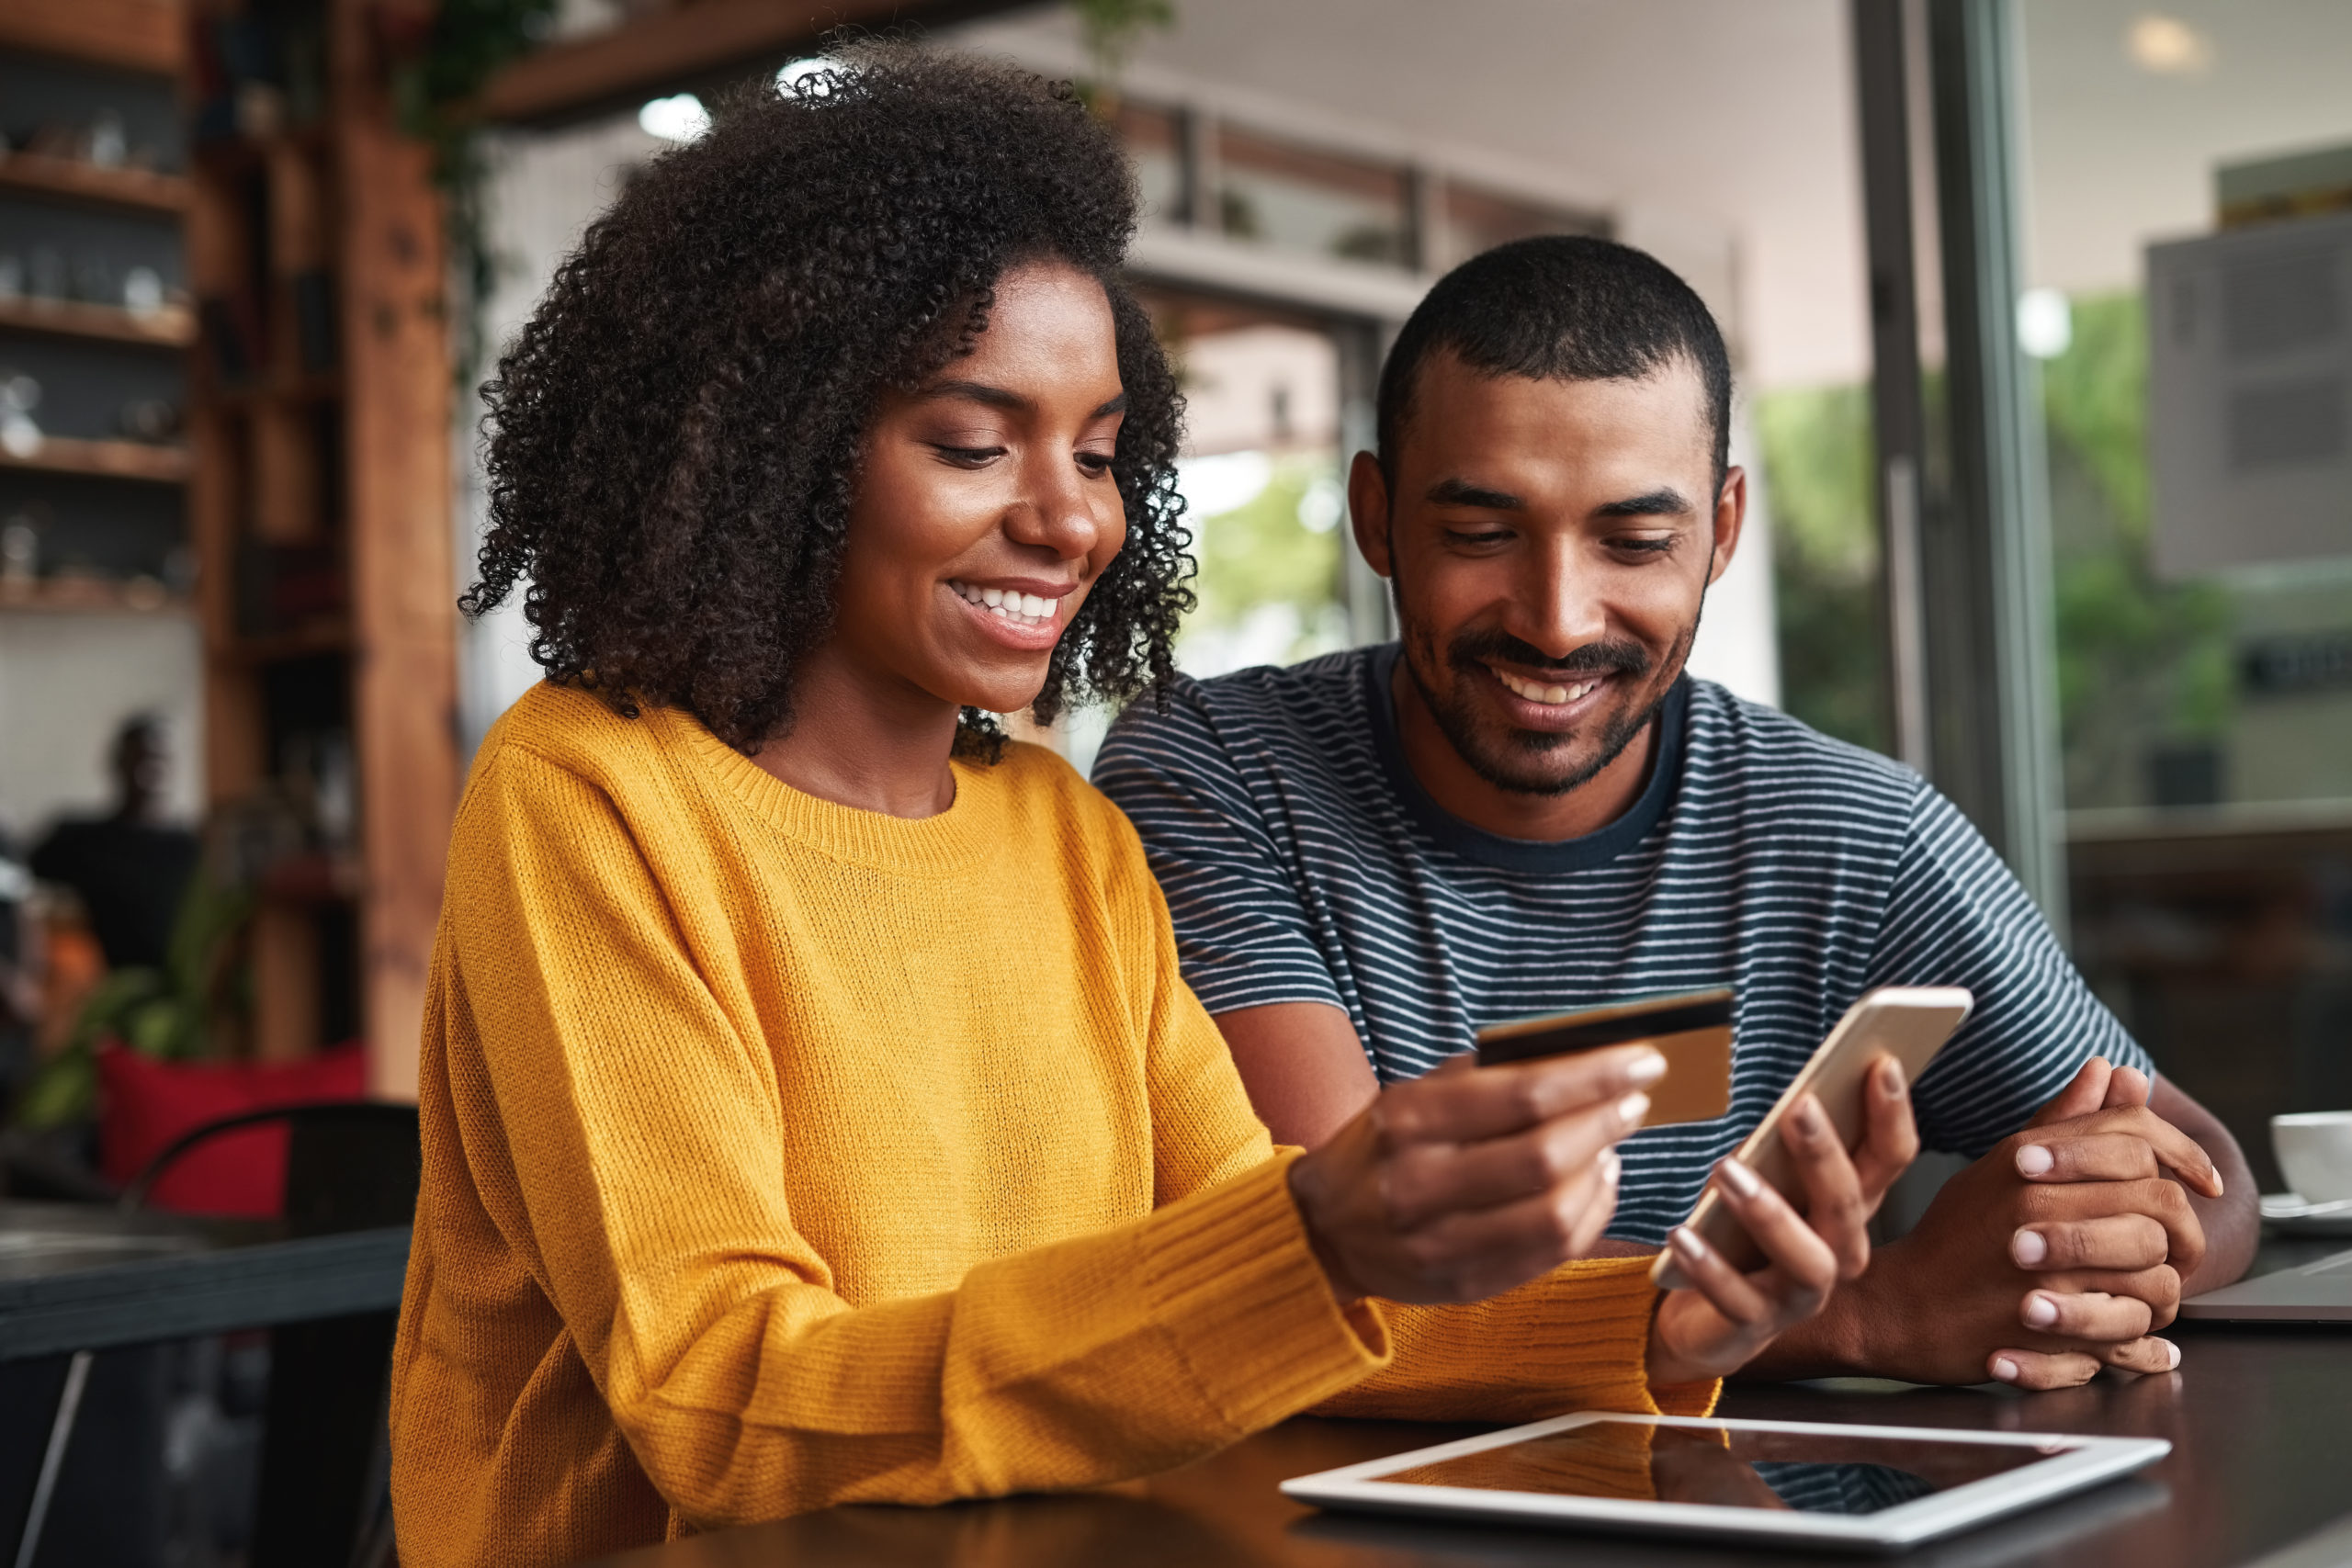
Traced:
<path fill-rule="evenodd" d="M 875 52 L 656 162 L 501 364 L 470 609 L 527 578 L 550 679 L 449 851 L 412 1568 L 1087 1486 L 1317 1406 L 1700 1410 L 1867 1258 L 1898 1081 L 1858 1164 L 1806 1140 L 1811 1225 L 1726 1175 L 1773 1265 L 1686 1244 L 1663 1302 L 1562 1267 L 1646 1048 L 1272 1150 L 1134 832 L 985 717 L 1169 672 L 1131 223 L 1068 94 Z"/>

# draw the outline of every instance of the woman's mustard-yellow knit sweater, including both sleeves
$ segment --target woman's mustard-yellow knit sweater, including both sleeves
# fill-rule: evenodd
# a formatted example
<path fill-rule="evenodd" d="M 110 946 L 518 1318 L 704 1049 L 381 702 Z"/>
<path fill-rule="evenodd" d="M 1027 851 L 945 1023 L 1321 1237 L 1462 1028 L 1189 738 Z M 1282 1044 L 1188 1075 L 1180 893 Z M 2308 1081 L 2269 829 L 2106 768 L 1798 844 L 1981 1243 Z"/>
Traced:
<path fill-rule="evenodd" d="M 1127 820 L 1037 748 L 955 785 L 851 811 L 555 686 L 492 731 L 423 1030 L 402 1563 L 1089 1486 L 1310 1406 L 1653 1408 L 1642 1260 L 1341 1312 Z"/>

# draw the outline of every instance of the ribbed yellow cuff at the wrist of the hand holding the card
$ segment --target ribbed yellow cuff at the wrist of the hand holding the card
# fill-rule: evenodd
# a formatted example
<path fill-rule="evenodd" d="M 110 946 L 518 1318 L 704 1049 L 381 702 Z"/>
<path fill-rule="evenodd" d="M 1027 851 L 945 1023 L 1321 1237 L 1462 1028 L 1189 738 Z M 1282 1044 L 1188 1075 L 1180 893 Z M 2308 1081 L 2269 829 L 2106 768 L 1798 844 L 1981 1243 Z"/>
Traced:
<path fill-rule="evenodd" d="M 1343 1312 L 1291 1201 L 1291 1159 L 1152 1215 L 1145 1291 L 1209 1403 L 1237 1434 L 1329 1399 L 1388 1363 L 1376 1312 Z"/>

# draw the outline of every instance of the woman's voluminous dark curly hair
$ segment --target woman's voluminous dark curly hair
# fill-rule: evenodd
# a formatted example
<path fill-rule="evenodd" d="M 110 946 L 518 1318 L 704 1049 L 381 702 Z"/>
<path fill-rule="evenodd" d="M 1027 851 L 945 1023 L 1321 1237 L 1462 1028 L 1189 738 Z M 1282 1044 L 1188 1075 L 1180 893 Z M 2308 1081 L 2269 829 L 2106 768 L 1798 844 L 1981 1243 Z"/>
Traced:
<path fill-rule="evenodd" d="M 550 679 L 623 715 L 687 708 L 757 750 L 833 623 L 877 400 L 969 348 L 1007 268 L 1063 261 L 1117 324 L 1127 548 L 1033 712 L 1141 693 L 1171 672 L 1190 538 L 1183 402 L 1120 282 L 1134 223 L 1117 141 L 1063 85 L 861 45 L 746 94 L 588 228 L 482 388 L 489 534 L 463 609 L 527 583 Z M 962 717 L 960 750 L 993 757 L 993 719 Z"/>

